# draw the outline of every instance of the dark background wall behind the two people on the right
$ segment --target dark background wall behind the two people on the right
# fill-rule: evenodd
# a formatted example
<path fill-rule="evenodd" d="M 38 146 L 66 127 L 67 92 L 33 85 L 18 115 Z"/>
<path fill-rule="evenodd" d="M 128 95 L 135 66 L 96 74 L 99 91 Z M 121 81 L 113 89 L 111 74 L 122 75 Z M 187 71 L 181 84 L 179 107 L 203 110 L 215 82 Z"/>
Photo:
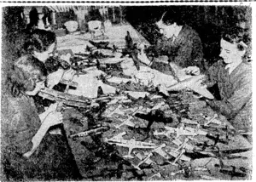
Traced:
<path fill-rule="evenodd" d="M 207 60 L 219 54 L 221 32 L 232 26 L 246 24 L 251 31 L 251 12 L 248 6 L 137 6 L 125 7 L 125 20 L 129 21 L 150 43 L 155 43 L 160 36 L 154 22 L 161 15 L 172 9 L 184 22 L 199 33 Z M 251 32 L 248 32 L 251 34 Z"/>

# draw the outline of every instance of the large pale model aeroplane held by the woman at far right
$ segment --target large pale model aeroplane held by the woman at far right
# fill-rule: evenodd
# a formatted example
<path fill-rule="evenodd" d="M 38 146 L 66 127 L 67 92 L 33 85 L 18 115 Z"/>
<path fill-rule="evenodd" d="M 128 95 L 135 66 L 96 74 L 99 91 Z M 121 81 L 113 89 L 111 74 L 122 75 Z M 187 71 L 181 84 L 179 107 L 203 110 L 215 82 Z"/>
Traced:
<path fill-rule="evenodd" d="M 213 100 L 214 96 L 207 90 L 207 88 L 204 88 L 203 86 L 201 86 L 200 82 L 204 77 L 205 76 L 200 75 L 200 76 L 193 76 L 193 77 L 186 78 L 168 87 L 167 90 L 178 91 L 178 90 L 189 88 L 195 91 L 195 93 L 201 94 L 207 99 Z"/>

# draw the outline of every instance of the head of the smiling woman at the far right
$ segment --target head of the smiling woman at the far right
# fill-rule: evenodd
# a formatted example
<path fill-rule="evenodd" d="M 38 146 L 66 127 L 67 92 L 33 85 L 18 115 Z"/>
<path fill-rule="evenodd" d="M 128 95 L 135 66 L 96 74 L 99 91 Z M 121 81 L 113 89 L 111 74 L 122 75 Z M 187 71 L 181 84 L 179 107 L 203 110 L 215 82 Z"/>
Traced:
<path fill-rule="evenodd" d="M 224 63 L 241 62 L 242 57 L 247 51 L 247 43 L 244 41 L 245 39 L 241 28 L 235 27 L 224 31 L 220 40 L 221 52 L 219 54 L 219 56 L 223 58 Z"/>

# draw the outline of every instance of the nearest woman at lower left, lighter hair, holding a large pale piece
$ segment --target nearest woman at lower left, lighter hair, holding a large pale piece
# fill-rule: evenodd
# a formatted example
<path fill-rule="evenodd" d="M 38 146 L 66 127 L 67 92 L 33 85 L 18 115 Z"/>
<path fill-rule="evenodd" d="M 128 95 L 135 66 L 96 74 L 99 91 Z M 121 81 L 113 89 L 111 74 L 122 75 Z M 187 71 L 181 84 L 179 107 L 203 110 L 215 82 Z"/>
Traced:
<path fill-rule="evenodd" d="M 31 54 L 15 61 L 8 75 L 8 108 L 2 120 L 1 163 L 7 180 L 77 179 L 66 136 L 47 128 L 62 122 L 57 105 L 38 115 L 32 96 L 43 89 L 44 64 Z"/>

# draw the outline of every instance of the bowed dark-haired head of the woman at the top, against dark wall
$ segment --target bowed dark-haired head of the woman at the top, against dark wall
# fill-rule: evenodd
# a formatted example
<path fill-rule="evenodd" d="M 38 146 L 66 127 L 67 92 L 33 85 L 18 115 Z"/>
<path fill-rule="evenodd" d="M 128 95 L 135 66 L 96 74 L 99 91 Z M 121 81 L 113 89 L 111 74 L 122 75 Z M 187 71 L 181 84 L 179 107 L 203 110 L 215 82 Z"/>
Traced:
<path fill-rule="evenodd" d="M 168 10 L 162 14 L 160 20 L 155 24 L 160 29 L 161 34 L 166 38 L 170 38 L 177 32 L 179 26 L 183 26 L 183 19 L 177 12 Z"/>

